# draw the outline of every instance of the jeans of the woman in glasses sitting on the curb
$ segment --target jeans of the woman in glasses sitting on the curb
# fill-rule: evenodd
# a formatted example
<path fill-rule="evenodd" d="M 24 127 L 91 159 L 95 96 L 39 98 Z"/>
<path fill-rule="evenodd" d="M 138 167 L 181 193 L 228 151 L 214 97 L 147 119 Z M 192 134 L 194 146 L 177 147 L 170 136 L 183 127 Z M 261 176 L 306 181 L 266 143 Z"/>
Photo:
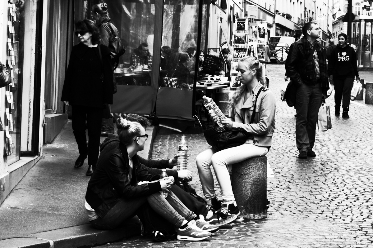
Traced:
<path fill-rule="evenodd" d="M 146 202 L 155 212 L 172 223 L 175 228 L 179 228 L 184 219 L 189 221 L 197 216 L 175 194 L 169 191 L 167 198 L 164 198 L 160 192 L 132 199 L 121 198 L 103 217 L 92 220 L 91 224 L 96 229 L 110 230 L 116 228 L 135 216 L 136 210 Z"/>

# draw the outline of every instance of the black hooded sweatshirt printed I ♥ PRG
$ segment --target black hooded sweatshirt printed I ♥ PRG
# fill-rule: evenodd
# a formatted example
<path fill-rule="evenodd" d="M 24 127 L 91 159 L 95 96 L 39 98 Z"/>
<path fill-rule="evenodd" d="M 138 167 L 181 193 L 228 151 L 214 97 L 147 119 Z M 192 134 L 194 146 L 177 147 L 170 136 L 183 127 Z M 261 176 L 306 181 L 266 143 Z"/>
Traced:
<path fill-rule="evenodd" d="M 333 78 L 354 78 L 359 76 L 357 70 L 356 53 L 354 48 L 346 45 L 344 48 L 336 46 L 330 54 L 327 75 Z"/>

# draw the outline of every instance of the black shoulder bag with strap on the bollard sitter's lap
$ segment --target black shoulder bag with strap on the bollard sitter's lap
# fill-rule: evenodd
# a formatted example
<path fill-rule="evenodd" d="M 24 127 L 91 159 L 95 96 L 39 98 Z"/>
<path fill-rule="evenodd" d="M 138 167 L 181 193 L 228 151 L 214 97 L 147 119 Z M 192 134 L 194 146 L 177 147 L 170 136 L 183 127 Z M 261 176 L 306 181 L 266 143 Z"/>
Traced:
<path fill-rule="evenodd" d="M 263 86 L 258 90 L 258 94 L 255 99 L 253 115 L 251 115 L 250 124 L 254 122 L 254 117 L 256 114 L 256 103 L 260 92 L 263 90 Z M 221 151 L 223 149 L 239 146 L 245 143 L 247 140 L 247 134 L 245 131 L 238 131 L 233 129 L 228 129 L 226 127 L 219 127 L 217 124 L 212 128 L 207 129 L 204 132 L 207 143 L 214 148 L 216 151 Z"/>

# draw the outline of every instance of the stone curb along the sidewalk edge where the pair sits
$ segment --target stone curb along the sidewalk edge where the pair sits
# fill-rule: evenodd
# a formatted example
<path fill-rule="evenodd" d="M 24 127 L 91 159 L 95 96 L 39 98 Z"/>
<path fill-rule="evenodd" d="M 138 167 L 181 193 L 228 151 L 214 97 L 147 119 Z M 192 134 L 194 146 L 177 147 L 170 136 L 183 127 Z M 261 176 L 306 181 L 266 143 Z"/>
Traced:
<path fill-rule="evenodd" d="M 149 159 L 153 140 L 158 128 L 147 128 L 148 142 L 141 157 Z M 9 238 L 0 240 L 0 248 L 88 248 L 104 245 L 129 238 L 140 233 L 138 219 L 131 219 L 128 225 L 114 230 L 97 230 L 90 224 L 71 226 L 28 235 L 28 238 Z"/>

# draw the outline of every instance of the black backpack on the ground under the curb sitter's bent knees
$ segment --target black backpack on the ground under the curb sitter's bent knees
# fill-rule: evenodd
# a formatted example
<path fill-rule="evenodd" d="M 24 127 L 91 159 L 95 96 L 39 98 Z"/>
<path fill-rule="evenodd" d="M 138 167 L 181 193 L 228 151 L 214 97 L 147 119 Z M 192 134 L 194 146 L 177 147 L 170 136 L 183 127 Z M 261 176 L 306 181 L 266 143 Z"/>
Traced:
<path fill-rule="evenodd" d="M 142 222 L 144 234 L 151 236 L 154 241 L 164 242 L 176 239 L 175 227 L 156 213 L 148 203 L 139 207 L 136 214 Z"/>

